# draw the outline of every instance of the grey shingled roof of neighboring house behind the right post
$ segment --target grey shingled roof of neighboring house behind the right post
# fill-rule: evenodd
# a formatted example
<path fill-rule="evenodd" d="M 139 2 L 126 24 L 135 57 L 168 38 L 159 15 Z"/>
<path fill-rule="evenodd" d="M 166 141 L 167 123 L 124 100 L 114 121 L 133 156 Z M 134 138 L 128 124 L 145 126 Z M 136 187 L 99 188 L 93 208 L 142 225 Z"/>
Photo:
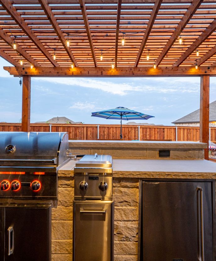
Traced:
<path fill-rule="evenodd" d="M 209 103 L 209 121 L 216 121 L 216 101 Z M 199 122 L 199 109 L 172 123 L 195 123 Z"/>

